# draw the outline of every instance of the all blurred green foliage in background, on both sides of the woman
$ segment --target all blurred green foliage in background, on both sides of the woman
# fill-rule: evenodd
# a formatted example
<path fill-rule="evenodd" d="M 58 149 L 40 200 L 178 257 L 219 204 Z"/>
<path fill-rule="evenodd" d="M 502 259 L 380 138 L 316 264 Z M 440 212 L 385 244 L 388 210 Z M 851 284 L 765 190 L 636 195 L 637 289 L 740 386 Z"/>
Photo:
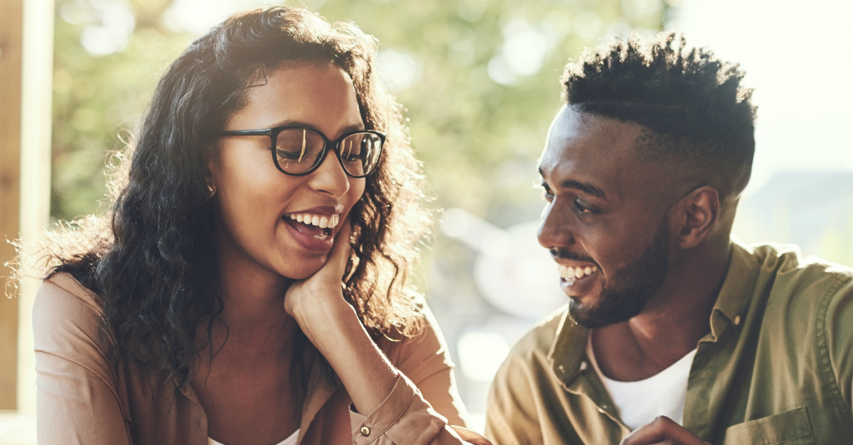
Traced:
<path fill-rule="evenodd" d="M 102 22 L 98 8 L 110 1 L 121 3 L 57 2 L 55 218 L 97 210 L 107 153 L 131 138 L 160 73 L 193 37 L 163 25 L 169 0 L 132 0 L 121 3 L 136 15 L 126 48 L 90 55 L 81 33 Z M 643 6 L 647 14 L 634 8 L 628 19 L 623 4 Z M 656 30 L 661 17 L 659 0 L 315 0 L 308 6 L 319 6 L 328 20 L 356 22 L 379 39 L 380 51 L 415 58 L 420 81 L 400 91 L 398 100 L 407 108 L 412 144 L 436 206 L 462 207 L 498 225 L 536 217 L 541 206 L 531 183 L 560 107 L 558 79 L 568 58 L 629 26 Z M 542 68 L 514 84 L 497 84 L 489 62 L 519 26 L 548 37 Z"/>

